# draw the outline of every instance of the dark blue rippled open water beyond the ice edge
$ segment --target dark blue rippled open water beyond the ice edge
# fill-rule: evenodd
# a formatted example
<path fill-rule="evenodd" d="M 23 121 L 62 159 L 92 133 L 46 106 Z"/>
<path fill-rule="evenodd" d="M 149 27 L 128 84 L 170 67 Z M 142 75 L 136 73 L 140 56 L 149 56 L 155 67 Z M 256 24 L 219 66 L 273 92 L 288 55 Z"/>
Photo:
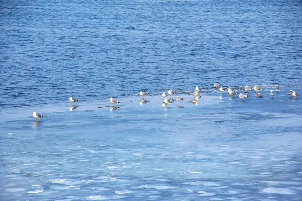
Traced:
<path fill-rule="evenodd" d="M 300 85 L 300 1 L 2 1 L 0 104 Z"/>

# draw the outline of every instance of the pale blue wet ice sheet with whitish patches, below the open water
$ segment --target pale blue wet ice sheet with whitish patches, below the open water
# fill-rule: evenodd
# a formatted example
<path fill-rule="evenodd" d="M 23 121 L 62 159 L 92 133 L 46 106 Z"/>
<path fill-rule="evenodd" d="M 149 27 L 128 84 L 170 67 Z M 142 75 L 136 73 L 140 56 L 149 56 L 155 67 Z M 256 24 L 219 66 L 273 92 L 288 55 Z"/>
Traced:
<path fill-rule="evenodd" d="M 184 108 L 161 96 L 3 108 L 0 196 L 301 200 L 302 107 L 286 92 L 205 94 L 198 105 L 182 95 Z"/>

